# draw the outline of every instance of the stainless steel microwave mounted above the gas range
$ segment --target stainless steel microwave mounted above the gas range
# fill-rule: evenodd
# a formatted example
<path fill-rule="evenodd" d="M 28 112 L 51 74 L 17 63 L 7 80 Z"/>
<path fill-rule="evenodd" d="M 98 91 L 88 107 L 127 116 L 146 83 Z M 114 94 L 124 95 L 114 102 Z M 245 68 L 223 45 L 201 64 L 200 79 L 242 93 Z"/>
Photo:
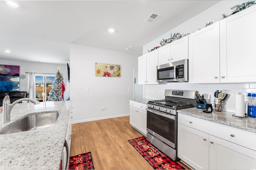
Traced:
<path fill-rule="evenodd" d="M 156 66 L 157 82 L 188 82 L 188 59 Z"/>

